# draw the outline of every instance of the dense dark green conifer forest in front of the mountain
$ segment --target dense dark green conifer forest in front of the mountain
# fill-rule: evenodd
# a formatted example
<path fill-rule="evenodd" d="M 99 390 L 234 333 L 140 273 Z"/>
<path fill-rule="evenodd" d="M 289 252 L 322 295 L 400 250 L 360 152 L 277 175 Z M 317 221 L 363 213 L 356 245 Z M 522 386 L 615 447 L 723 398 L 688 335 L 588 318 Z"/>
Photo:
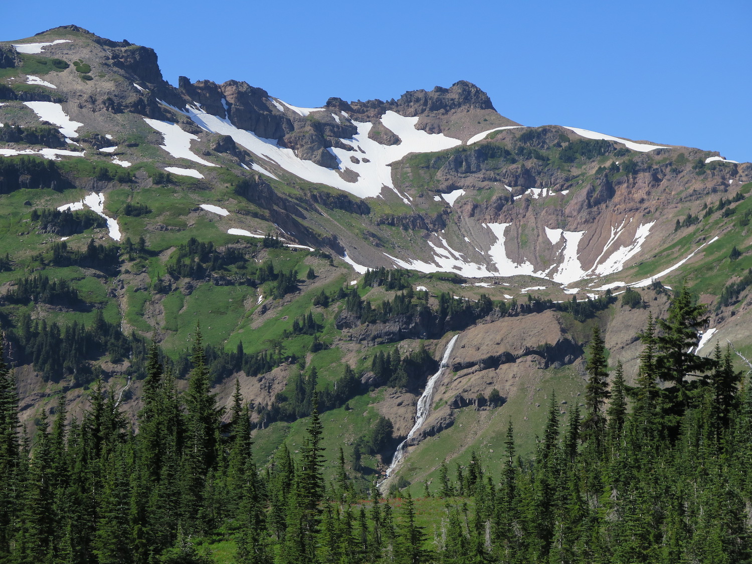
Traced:
<path fill-rule="evenodd" d="M 517 453 L 509 421 L 503 463 L 447 460 L 420 498 L 410 487 L 385 497 L 375 482 L 356 490 L 350 448 L 323 451 L 312 368 L 301 384 L 305 444 L 255 460 L 249 402 L 236 385 L 228 412 L 217 405 L 200 331 L 182 392 L 158 347 L 147 351 L 135 423 L 97 380 L 82 417 L 59 402 L 30 437 L 0 362 L 0 562 L 208 563 L 212 543 L 238 564 L 750 562 L 752 385 L 732 347 L 692 352 L 707 320 L 677 290 L 666 319 L 649 317 L 636 335 L 634 386 L 596 326 L 582 405 L 564 413 L 550 390 L 532 456 Z M 328 482 L 326 461 L 337 468 Z M 419 509 L 428 500 L 441 513 L 432 527 Z"/>

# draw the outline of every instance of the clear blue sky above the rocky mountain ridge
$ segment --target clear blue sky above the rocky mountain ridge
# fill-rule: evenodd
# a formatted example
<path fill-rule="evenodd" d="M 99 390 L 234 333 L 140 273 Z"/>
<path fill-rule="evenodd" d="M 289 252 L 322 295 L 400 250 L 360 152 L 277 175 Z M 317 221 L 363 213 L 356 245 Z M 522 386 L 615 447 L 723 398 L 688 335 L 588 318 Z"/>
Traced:
<path fill-rule="evenodd" d="M 502 115 L 752 161 L 752 2 L 6 2 L 0 39 L 75 23 L 153 47 L 165 78 L 299 106 L 469 80 Z"/>

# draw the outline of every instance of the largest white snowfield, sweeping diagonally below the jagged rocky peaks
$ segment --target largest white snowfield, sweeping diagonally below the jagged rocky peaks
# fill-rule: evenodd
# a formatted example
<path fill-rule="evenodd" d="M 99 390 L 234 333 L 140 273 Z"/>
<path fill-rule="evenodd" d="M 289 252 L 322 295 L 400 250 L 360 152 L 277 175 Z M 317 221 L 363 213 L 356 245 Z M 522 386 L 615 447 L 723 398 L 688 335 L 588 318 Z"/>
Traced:
<path fill-rule="evenodd" d="M 177 108 L 173 109 L 180 111 Z M 181 111 L 181 113 L 189 116 L 196 124 L 208 131 L 229 135 L 235 143 L 304 180 L 333 186 L 360 198 L 377 197 L 381 194 L 384 186 L 394 190 L 392 169 L 389 166 L 391 162 L 402 159 L 408 153 L 427 153 L 448 149 L 462 143 L 459 139 L 449 138 L 441 133 L 432 135 L 415 129 L 418 117 L 403 117 L 393 111 L 387 111 L 381 117 L 381 123 L 396 135 L 399 135 L 402 143 L 399 145 L 382 145 L 368 138 L 368 132 L 372 127 L 371 123 L 353 121 L 353 124 L 358 128 L 357 135 L 352 139 L 342 139 L 341 141 L 351 147 L 360 147 L 365 152 L 363 156 L 368 157 L 369 162 L 361 160 L 358 164 L 351 163 L 351 151 L 337 147 L 329 148 L 329 151 L 338 158 L 338 162 L 347 161 L 347 167 L 359 174 L 355 182 L 347 182 L 335 169 L 325 168 L 314 162 L 299 159 L 292 149 L 279 147 L 276 139 L 260 138 L 253 132 L 238 129 L 229 120 L 207 114 L 194 106 L 188 106 L 186 111 Z"/>

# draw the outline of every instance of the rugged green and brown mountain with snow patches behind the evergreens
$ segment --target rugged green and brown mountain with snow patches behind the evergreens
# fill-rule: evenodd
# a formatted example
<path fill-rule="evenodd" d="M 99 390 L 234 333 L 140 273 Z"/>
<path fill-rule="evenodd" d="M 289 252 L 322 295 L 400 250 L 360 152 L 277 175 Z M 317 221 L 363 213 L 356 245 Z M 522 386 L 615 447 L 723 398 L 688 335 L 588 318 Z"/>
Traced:
<path fill-rule="evenodd" d="M 578 401 L 595 325 L 632 381 L 670 287 L 711 311 L 698 351 L 752 352 L 750 163 L 526 127 L 462 80 L 320 108 L 174 87 L 150 48 L 77 26 L 0 42 L 0 100 L 0 323 L 32 426 L 61 394 L 80 413 L 97 377 L 135 416 L 148 342 L 184 376 L 200 321 L 217 400 L 238 378 L 264 456 L 301 440 L 314 366 L 330 452 L 392 423 L 362 458 L 383 471 L 459 334 L 393 474 L 414 481 L 494 459 L 510 417 L 532 450 L 553 387 Z"/>

